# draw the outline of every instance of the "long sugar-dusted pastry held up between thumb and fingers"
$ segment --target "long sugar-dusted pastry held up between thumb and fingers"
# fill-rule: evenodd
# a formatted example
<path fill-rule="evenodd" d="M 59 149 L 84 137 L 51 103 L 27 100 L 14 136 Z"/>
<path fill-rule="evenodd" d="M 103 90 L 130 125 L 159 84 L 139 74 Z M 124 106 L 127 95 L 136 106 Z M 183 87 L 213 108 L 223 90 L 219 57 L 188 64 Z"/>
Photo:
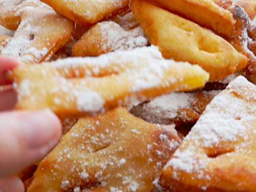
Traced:
<path fill-rule="evenodd" d="M 199 66 L 164 60 L 156 47 L 68 58 L 13 72 L 18 109 L 50 108 L 58 115 L 104 112 L 136 99 L 203 87 Z"/>

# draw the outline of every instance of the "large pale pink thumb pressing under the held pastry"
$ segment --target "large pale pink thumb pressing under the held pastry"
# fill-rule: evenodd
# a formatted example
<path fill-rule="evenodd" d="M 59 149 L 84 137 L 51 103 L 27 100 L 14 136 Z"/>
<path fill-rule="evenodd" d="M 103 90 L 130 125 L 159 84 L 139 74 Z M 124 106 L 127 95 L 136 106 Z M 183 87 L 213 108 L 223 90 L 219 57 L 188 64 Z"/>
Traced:
<path fill-rule="evenodd" d="M 43 158 L 61 136 L 61 124 L 50 111 L 0 115 L 0 178 Z"/>

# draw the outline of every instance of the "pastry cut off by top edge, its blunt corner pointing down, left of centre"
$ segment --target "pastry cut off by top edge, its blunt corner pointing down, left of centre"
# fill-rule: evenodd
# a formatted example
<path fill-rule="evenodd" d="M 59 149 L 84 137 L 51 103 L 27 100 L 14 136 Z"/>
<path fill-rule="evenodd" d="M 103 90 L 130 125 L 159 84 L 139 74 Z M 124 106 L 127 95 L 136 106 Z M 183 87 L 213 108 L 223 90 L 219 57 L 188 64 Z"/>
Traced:
<path fill-rule="evenodd" d="M 95 24 L 129 8 L 130 0 L 42 0 L 79 25 Z"/>

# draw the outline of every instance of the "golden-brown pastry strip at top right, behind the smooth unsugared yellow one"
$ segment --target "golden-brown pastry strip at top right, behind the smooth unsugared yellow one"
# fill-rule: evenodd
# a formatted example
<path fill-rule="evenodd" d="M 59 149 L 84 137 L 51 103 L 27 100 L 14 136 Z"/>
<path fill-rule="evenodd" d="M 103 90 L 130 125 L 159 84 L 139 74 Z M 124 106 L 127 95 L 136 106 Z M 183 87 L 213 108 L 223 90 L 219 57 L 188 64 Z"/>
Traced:
<path fill-rule="evenodd" d="M 147 0 L 180 16 L 230 37 L 236 23 L 232 14 L 212 0 Z"/>

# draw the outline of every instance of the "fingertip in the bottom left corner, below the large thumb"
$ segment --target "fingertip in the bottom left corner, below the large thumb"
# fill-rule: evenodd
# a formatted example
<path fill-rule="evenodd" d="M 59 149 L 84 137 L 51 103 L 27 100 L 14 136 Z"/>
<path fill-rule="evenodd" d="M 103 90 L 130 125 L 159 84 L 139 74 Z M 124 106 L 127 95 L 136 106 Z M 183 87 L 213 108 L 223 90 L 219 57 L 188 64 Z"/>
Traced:
<path fill-rule="evenodd" d="M 10 177 L 0 180 L 1 192 L 24 192 L 23 182 L 17 177 Z"/>

